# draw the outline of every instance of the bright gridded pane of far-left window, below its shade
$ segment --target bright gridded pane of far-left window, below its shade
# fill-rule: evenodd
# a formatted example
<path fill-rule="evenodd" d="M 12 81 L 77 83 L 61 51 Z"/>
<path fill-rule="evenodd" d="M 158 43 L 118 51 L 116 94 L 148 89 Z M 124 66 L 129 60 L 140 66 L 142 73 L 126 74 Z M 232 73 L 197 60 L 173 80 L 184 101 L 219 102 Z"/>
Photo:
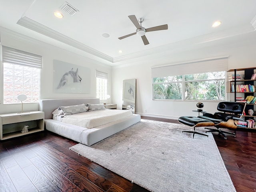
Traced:
<path fill-rule="evenodd" d="M 40 69 L 3 63 L 4 104 L 20 103 L 19 94 L 25 94 L 23 103 L 38 103 L 40 98 Z"/>

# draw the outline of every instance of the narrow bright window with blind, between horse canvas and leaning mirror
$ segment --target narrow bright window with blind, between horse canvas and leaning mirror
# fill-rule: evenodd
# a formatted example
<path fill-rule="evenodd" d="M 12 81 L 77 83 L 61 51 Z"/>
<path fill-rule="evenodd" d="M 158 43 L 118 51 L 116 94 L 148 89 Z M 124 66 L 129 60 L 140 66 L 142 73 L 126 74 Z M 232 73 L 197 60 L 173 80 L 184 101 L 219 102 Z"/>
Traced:
<path fill-rule="evenodd" d="M 100 100 L 107 100 L 108 95 L 108 74 L 96 70 L 96 97 Z"/>

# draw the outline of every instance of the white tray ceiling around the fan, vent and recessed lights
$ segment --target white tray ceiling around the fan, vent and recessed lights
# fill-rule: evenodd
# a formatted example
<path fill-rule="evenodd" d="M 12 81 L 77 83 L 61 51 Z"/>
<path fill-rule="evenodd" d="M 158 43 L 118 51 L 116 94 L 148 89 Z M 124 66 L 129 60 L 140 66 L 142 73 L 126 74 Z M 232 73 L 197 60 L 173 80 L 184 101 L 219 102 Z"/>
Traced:
<path fill-rule="evenodd" d="M 256 0 L 67 0 L 78 12 L 61 10 L 65 0 L 0 0 L 0 26 L 55 46 L 85 52 L 115 66 L 127 58 L 145 56 L 178 42 L 194 43 L 254 32 Z M 64 15 L 54 16 L 54 11 Z M 168 30 L 147 32 L 150 44 L 136 32 L 128 18 L 144 18 L 150 28 L 168 24 Z M 216 28 L 213 22 L 222 24 Z M 109 38 L 104 38 L 108 33 Z M 118 51 L 122 50 L 122 53 Z"/>

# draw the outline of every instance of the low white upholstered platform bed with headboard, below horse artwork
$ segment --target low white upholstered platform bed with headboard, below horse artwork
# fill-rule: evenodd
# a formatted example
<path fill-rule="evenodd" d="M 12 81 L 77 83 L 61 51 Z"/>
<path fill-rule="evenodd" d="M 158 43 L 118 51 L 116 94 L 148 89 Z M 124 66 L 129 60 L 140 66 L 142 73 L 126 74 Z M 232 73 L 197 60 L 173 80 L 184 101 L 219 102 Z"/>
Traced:
<path fill-rule="evenodd" d="M 74 106 L 74 105 L 80 105 L 80 104 L 100 104 L 100 100 L 98 98 L 82 98 L 82 99 L 45 99 L 40 100 L 39 102 L 39 110 L 44 112 L 44 125 L 46 130 L 49 130 L 51 132 L 54 132 L 56 134 L 59 134 L 61 136 L 64 136 L 66 138 L 70 138 L 76 142 L 85 144 L 87 146 L 91 146 L 92 144 L 95 144 L 96 142 L 99 142 L 113 134 L 116 134 L 117 132 L 120 132 L 129 126 L 132 126 L 133 124 L 136 124 L 137 122 L 140 122 L 140 115 L 139 114 L 125 114 L 121 115 L 121 118 L 116 120 L 102 120 L 104 117 L 102 114 L 100 114 L 100 111 L 107 112 L 107 113 L 114 113 L 115 111 L 122 112 L 126 110 L 113 110 L 113 109 L 104 109 L 104 110 L 98 110 L 97 113 L 100 116 L 100 120 L 103 121 L 103 124 L 98 126 L 99 124 L 92 120 L 92 122 L 87 123 L 86 121 L 82 121 L 76 124 L 68 124 L 70 120 L 67 120 L 67 122 L 60 121 L 58 119 L 54 120 L 54 115 L 52 112 L 54 112 L 56 109 L 58 109 L 60 106 Z M 90 112 L 82 112 L 84 114 L 94 114 L 96 115 L 96 111 L 90 111 Z M 81 114 L 82 114 L 81 113 Z M 79 114 L 79 116 L 81 115 Z M 62 114 L 63 115 L 63 114 Z M 101 116 L 102 115 L 102 116 Z M 78 114 L 72 114 L 70 116 L 78 116 Z M 68 118 L 70 117 L 67 116 Z M 77 119 L 81 119 L 80 117 Z M 84 119 L 88 119 L 87 117 Z M 76 122 L 76 120 L 74 120 Z M 90 124 L 90 128 L 84 127 L 84 124 Z M 93 125 L 92 125 L 93 124 Z"/>

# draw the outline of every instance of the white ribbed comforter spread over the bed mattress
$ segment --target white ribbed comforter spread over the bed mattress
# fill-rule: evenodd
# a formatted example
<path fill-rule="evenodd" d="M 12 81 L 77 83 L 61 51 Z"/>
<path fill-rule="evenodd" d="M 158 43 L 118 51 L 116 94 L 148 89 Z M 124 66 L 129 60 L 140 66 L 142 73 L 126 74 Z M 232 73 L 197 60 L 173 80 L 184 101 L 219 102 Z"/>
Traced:
<path fill-rule="evenodd" d="M 64 116 L 63 118 L 55 118 L 55 120 L 91 129 L 126 118 L 128 116 L 132 116 L 132 112 L 130 110 L 105 109 L 72 114 Z"/>

